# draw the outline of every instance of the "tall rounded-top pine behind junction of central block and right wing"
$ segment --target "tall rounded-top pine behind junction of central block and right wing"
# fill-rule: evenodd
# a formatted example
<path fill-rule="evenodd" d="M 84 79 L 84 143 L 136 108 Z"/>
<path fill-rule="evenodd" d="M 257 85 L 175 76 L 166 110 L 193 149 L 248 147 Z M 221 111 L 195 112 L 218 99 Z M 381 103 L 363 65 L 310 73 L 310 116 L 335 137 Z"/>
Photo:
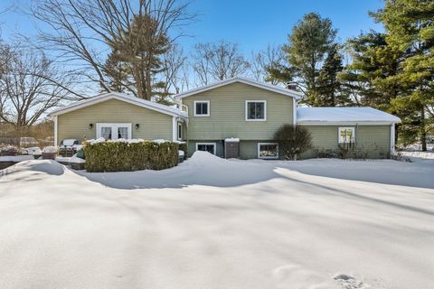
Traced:
<path fill-rule="evenodd" d="M 306 95 L 308 105 L 318 103 L 317 81 L 321 63 L 335 42 L 337 31 L 328 18 L 319 14 L 306 14 L 288 35 L 289 43 L 283 46 L 288 65 L 269 70 L 271 79 L 287 84 L 297 82 Z"/>

